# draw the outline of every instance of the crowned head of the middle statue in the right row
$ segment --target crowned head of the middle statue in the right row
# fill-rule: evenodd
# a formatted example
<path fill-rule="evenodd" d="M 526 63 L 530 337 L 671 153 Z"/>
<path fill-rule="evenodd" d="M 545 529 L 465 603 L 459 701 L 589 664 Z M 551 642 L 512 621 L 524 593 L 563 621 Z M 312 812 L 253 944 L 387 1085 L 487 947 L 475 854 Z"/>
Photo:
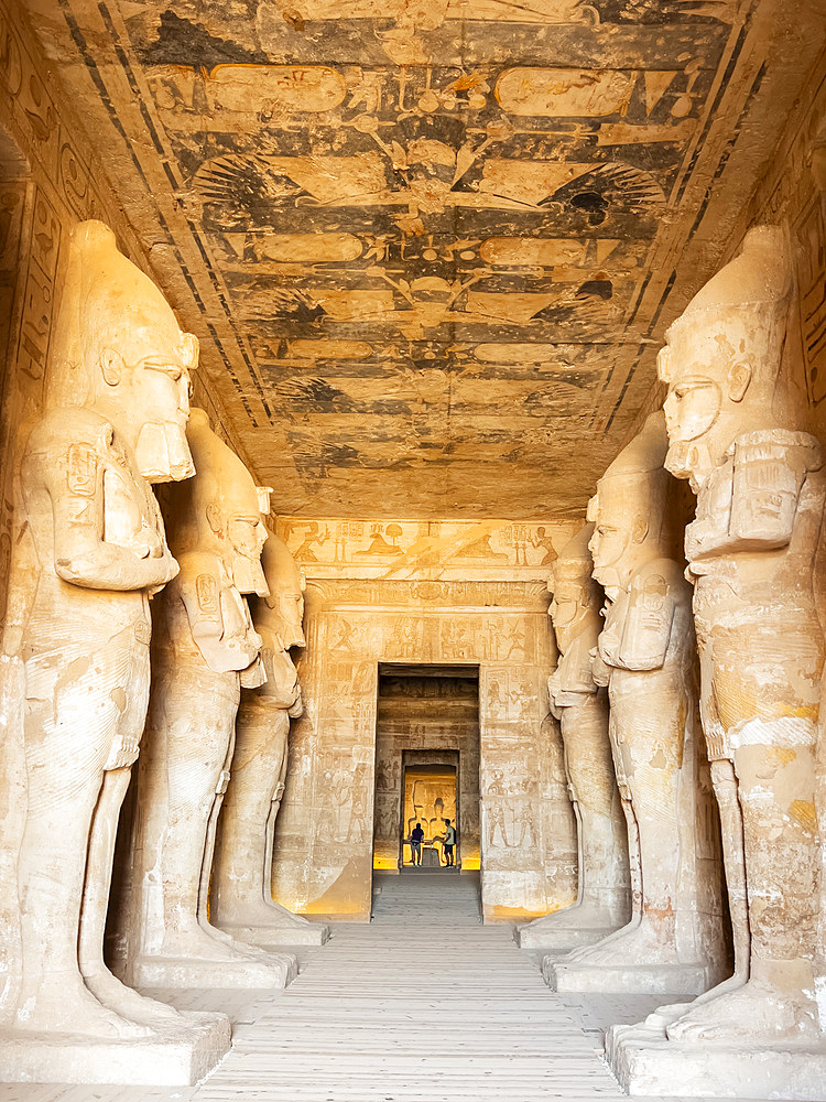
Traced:
<path fill-rule="evenodd" d="M 665 417 L 660 410 L 622 449 L 588 503 L 588 520 L 594 523 L 588 543 L 594 576 L 611 599 L 640 566 L 665 553 L 670 475 L 663 461 L 667 445 Z"/>

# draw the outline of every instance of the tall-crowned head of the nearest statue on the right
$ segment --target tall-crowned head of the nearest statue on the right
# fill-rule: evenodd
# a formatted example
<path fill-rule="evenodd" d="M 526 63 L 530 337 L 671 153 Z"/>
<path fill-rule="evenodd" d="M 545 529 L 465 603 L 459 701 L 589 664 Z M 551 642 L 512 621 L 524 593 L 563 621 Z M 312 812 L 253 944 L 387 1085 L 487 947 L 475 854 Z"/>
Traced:
<path fill-rule="evenodd" d="M 784 230 L 757 226 L 665 334 L 657 357 L 669 386 L 665 466 L 695 493 L 736 436 L 767 414 L 783 417 L 778 383 L 793 287 Z"/>

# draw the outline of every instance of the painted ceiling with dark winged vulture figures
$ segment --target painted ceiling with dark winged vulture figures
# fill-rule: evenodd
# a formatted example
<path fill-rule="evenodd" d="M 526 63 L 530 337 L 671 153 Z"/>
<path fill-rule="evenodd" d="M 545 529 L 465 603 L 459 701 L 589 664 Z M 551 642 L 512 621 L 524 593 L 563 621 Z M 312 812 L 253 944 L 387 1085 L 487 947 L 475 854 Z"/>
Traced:
<path fill-rule="evenodd" d="M 582 514 L 814 56 L 773 0 L 30 7 L 307 517 Z"/>

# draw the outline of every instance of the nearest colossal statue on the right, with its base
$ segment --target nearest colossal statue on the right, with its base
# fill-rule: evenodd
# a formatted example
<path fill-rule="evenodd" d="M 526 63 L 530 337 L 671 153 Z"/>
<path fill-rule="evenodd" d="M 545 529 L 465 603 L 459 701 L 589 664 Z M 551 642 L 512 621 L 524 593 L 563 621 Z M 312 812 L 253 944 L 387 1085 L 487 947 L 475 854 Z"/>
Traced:
<path fill-rule="evenodd" d="M 795 315 L 785 233 L 757 227 L 671 326 L 659 359 L 666 466 L 697 495 L 685 550 L 736 971 L 646 1029 L 613 1030 L 617 1066 L 643 1089 L 665 1065 L 666 1076 L 680 1069 L 684 1093 L 714 1092 L 725 1078 L 725 1092 L 742 1098 L 811 1099 L 826 1082 L 814 592 L 826 479 L 793 385 Z M 822 801 L 817 812 L 823 838 Z"/>

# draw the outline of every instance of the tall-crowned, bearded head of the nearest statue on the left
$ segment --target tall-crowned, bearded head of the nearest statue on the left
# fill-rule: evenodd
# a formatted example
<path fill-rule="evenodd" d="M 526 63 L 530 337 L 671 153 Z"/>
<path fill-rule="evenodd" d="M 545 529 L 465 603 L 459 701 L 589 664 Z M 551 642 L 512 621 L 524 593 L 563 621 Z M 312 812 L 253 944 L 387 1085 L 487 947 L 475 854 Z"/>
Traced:
<path fill-rule="evenodd" d="M 152 483 L 189 478 L 189 372 L 198 342 L 102 222 L 72 231 L 55 328 L 50 403 L 94 408 L 134 449 Z"/>

